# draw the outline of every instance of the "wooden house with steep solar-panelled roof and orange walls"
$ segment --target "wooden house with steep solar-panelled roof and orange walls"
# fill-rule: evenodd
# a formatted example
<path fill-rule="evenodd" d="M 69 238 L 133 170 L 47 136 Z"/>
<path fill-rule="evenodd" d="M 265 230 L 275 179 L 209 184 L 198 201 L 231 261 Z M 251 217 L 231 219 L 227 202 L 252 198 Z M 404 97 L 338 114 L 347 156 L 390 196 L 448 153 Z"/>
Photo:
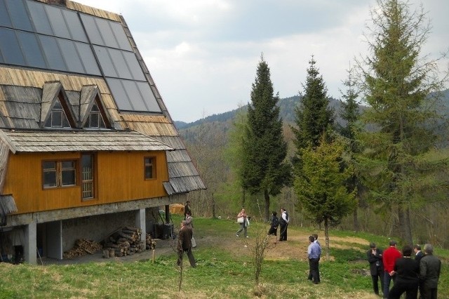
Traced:
<path fill-rule="evenodd" d="M 121 15 L 0 0 L 2 253 L 20 244 L 36 263 L 122 226 L 147 232 L 205 188 Z"/>

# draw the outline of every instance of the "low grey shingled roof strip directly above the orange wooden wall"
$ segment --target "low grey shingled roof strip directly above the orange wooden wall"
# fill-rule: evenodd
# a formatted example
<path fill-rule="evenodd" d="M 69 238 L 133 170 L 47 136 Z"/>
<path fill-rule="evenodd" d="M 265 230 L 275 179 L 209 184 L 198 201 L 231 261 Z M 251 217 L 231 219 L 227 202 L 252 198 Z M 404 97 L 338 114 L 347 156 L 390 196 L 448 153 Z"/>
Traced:
<path fill-rule="evenodd" d="M 173 147 L 135 131 L 0 130 L 0 140 L 18 152 L 161 151 Z"/>

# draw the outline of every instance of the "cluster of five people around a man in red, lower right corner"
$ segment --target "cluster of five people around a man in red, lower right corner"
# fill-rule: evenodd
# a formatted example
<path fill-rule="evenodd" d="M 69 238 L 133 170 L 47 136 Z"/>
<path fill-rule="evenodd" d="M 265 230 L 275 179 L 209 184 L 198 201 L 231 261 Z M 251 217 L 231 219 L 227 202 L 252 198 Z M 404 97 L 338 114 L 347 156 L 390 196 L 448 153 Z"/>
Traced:
<path fill-rule="evenodd" d="M 413 251 L 414 259 L 411 257 Z M 419 293 L 420 299 L 436 299 L 441 261 L 433 253 L 431 244 L 424 245 L 423 254 L 419 244 L 413 248 L 405 245 L 401 253 L 396 248 L 396 241 L 389 241 L 389 248 L 383 252 L 375 243 L 371 243 L 366 255 L 374 293 L 380 294 L 380 281 L 383 298 L 400 298 L 406 293 L 406 299 L 416 299 Z M 390 289 L 391 280 L 393 286 Z"/>

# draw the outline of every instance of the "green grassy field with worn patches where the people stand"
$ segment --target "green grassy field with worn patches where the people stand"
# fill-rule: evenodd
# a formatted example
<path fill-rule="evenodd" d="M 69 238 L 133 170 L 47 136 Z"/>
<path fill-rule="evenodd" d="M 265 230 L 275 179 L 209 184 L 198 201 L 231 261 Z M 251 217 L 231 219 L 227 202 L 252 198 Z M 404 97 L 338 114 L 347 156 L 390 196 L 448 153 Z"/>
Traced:
<path fill-rule="evenodd" d="M 180 218 L 173 217 L 175 225 Z M 311 228 L 289 227 L 288 241 L 270 240 L 260 286 L 255 288 L 253 248 L 267 225 L 252 223 L 248 239 L 237 238 L 233 220 L 194 220 L 197 267 L 185 258 L 175 267 L 174 251 L 156 260 L 76 265 L 11 265 L 0 263 L 0 298 L 378 298 L 373 294 L 366 251 L 370 241 L 385 248 L 387 237 L 354 232 L 330 232 L 330 258 L 321 258 L 321 284 L 307 281 L 307 237 L 324 234 Z M 436 248 L 443 260 L 438 298 L 449 298 L 449 251 Z"/>

